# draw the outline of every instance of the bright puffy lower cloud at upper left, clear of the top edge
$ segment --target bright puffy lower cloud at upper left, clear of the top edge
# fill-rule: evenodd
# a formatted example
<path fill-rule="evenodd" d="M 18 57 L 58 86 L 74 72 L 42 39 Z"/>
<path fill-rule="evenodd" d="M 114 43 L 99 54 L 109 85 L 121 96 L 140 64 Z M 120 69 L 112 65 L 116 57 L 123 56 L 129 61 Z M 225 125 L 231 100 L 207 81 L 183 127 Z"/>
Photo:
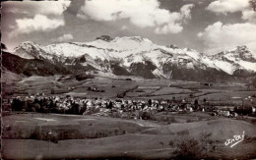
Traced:
<path fill-rule="evenodd" d="M 18 19 L 17 26 L 10 33 L 10 36 L 31 33 L 33 31 L 49 31 L 64 26 L 63 19 L 49 19 L 44 15 L 35 15 L 32 19 Z"/>

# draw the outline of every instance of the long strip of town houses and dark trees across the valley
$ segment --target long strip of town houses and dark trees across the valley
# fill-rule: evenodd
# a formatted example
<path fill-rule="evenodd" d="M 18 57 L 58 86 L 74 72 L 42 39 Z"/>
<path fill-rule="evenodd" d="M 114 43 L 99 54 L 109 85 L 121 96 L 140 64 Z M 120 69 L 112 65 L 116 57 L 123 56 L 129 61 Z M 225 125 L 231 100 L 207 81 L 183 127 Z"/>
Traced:
<path fill-rule="evenodd" d="M 93 88 L 94 89 L 94 88 Z M 74 98 L 72 96 L 18 96 L 10 99 L 7 105 L 13 111 L 79 114 L 119 117 L 128 119 L 148 119 L 147 116 L 158 112 L 209 112 L 213 116 L 237 117 L 235 111 L 239 107 L 209 106 L 207 102 L 199 104 L 186 100 L 132 100 L 132 99 L 101 99 L 101 98 Z M 252 107 L 251 113 L 255 113 Z M 145 114 L 146 113 L 146 114 Z"/>

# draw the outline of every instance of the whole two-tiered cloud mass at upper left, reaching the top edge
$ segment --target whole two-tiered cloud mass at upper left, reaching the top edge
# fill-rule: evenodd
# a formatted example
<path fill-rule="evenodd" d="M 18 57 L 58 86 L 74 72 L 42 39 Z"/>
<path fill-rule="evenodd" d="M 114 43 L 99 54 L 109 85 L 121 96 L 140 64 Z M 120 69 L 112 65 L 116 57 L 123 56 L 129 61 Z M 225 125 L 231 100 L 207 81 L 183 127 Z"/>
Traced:
<path fill-rule="evenodd" d="M 71 1 L 23 1 L 8 2 L 11 7 L 7 13 L 24 14 L 24 18 L 15 20 L 16 25 L 10 26 L 13 31 L 9 36 L 31 33 L 33 31 L 49 31 L 64 26 L 63 12 Z"/>

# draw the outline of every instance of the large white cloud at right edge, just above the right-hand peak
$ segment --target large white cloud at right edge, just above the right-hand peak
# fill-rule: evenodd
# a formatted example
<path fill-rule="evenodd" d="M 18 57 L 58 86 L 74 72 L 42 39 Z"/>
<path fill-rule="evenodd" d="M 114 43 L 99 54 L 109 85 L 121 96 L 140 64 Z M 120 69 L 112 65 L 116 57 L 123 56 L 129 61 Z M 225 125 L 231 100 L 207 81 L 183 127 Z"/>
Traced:
<path fill-rule="evenodd" d="M 208 53 L 213 54 L 232 49 L 238 45 L 248 45 L 253 49 L 253 54 L 256 55 L 256 25 L 254 24 L 224 25 L 217 22 L 206 27 L 203 32 L 199 32 L 197 35 L 204 41 L 207 47 L 205 51 Z"/>

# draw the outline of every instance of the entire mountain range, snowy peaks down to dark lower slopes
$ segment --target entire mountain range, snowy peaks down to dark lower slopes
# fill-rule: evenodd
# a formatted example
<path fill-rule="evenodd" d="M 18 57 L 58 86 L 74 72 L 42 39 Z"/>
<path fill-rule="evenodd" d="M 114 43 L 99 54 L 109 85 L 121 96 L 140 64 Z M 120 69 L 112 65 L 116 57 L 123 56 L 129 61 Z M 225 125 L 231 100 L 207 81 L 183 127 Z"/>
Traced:
<path fill-rule="evenodd" d="M 21 43 L 3 52 L 3 67 L 26 76 L 102 72 L 145 79 L 224 81 L 255 75 L 256 58 L 246 46 L 206 55 L 173 44 L 160 46 L 147 38 L 102 35 L 92 42 L 41 46 Z"/>

